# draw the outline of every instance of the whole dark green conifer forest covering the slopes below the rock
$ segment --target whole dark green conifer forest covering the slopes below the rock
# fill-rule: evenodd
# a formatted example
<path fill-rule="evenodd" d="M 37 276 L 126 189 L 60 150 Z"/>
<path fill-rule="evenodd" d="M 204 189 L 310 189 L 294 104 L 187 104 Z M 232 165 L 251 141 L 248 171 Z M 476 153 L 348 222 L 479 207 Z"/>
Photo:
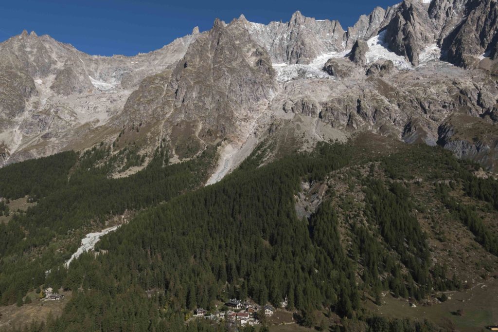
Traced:
<path fill-rule="evenodd" d="M 359 222 L 356 212 L 343 208 L 346 215 L 339 214 L 333 187 L 315 211 L 300 218 L 295 209 L 300 184 L 326 181 L 331 172 L 359 163 L 358 150 L 321 143 L 312 153 L 293 153 L 261 166 L 266 148 L 261 145 L 219 183 L 198 189 L 214 151 L 166 165 L 166 151 L 160 149 L 144 170 L 123 179 L 107 177 L 112 165 L 106 163 L 104 147 L 77 161 L 70 153 L 54 157 L 73 158 L 64 168 L 69 180 L 40 195 L 25 214 L 0 225 L 0 236 L 11 239 L 0 254 L 3 304 L 18 300 L 19 289 L 22 294 L 40 285 L 72 290 L 63 315 L 33 325 L 34 331 L 226 331 L 223 325 L 202 321 L 185 324 L 185 318 L 195 308 L 211 310 L 229 298 L 278 307 L 284 297 L 288 309 L 304 320 L 315 310 L 337 313 L 345 319 L 345 331 L 348 318 L 363 322 L 365 331 L 438 331 L 427 322 L 386 320 L 362 309 L 366 297 L 380 304 L 381 291 L 421 300 L 431 292 L 461 287 L 446 266 L 431 261 L 427 235 L 415 216 L 417 206 L 401 180 L 413 180 L 413 167 L 438 169 L 427 173 L 427 179 L 451 178 L 468 197 L 492 208 L 496 180 L 478 179 L 472 174 L 474 165 L 429 147 L 363 156 L 361 164 L 378 165 L 366 176 L 354 175 L 365 194 L 366 223 Z M 476 226 L 466 221 L 468 213 L 451 203 L 456 198 L 444 188 L 436 183 L 437 197 L 450 212 L 459 213 L 458 220 L 476 234 L 477 242 L 496 254 L 493 230 L 484 222 Z M 106 254 L 83 254 L 69 269 L 61 263 L 70 248 L 24 260 L 71 228 L 103 222 L 126 209 L 141 212 L 101 239 L 95 250 Z M 340 222 L 351 228 L 349 244 Z M 24 227 L 39 235 L 23 239 Z M 52 270 L 45 276 L 47 265 Z M 36 279 L 28 278 L 33 275 Z"/>

